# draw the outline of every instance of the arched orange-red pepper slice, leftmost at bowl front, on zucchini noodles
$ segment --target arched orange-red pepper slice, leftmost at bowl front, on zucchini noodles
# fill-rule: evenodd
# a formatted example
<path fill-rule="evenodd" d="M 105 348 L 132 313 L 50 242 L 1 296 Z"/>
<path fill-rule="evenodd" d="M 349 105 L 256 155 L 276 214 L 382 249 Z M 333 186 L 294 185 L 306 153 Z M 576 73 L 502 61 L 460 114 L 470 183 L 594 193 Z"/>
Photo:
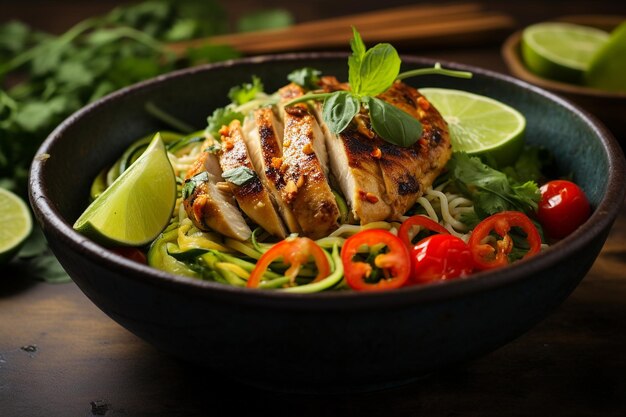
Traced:
<path fill-rule="evenodd" d="M 297 237 L 285 239 L 265 252 L 250 273 L 247 287 L 258 287 L 267 268 L 278 258 L 282 258 L 283 262 L 289 265 L 289 269 L 285 271 L 285 276 L 295 280 L 300 267 L 309 261 L 309 257 L 313 258 L 317 267 L 317 276 L 313 282 L 326 278 L 330 274 L 330 263 L 324 249 L 307 237 Z"/>

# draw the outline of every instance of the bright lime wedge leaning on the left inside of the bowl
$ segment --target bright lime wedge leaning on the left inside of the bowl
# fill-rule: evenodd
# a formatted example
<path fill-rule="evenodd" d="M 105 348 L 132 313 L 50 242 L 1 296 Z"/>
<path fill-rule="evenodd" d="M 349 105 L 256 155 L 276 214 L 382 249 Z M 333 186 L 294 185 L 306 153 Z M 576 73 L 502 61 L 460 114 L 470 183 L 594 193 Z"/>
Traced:
<path fill-rule="evenodd" d="M 105 245 L 142 246 L 167 226 L 176 176 L 157 133 L 146 151 L 87 207 L 74 229 Z"/>

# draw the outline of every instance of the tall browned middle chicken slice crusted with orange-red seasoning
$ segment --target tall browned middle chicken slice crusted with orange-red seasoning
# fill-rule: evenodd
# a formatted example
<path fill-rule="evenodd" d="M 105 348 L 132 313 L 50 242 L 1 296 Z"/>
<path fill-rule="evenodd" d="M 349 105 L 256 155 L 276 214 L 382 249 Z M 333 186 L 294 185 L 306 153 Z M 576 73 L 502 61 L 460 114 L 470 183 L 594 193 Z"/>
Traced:
<path fill-rule="evenodd" d="M 289 84 L 279 90 L 283 103 L 303 90 Z M 312 239 L 328 235 L 339 225 L 339 208 L 328 184 L 328 156 L 324 134 L 304 103 L 282 107 L 285 126 L 280 170 L 285 186 L 282 199 L 296 216 L 302 233 Z"/>

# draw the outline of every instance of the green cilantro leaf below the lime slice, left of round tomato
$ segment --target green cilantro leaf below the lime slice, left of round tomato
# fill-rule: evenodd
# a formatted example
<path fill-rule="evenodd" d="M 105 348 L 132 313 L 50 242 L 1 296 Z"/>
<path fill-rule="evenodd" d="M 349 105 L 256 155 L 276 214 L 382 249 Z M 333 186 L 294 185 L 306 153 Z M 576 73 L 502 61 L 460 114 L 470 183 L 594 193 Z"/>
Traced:
<path fill-rule="evenodd" d="M 532 214 L 537 209 L 540 193 L 536 183 L 515 183 L 478 157 L 455 152 L 448 170 L 450 179 L 474 202 L 474 210 L 481 219 L 505 210 Z"/>

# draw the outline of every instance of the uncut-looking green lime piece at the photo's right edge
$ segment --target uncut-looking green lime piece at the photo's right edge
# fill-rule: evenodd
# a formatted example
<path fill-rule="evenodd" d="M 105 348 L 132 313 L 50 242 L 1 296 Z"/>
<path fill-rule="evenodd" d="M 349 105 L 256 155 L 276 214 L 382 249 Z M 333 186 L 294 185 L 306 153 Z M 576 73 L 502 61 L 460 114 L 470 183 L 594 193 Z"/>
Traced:
<path fill-rule="evenodd" d="M 588 86 L 626 91 L 626 22 L 619 25 L 591 59 L 585 73 Z"/>

